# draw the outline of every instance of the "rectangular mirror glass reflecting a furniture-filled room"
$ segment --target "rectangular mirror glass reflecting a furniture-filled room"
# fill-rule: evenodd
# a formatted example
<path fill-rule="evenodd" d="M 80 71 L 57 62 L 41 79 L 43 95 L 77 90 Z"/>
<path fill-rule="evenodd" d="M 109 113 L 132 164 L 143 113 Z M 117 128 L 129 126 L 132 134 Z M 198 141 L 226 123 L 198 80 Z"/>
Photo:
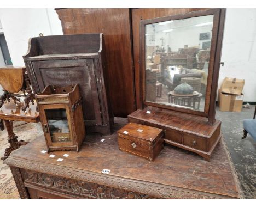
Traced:
<path fill-rule="evenodd" d="M 213 15 L 146 25 L 146 101 L 204 111 Z"/>

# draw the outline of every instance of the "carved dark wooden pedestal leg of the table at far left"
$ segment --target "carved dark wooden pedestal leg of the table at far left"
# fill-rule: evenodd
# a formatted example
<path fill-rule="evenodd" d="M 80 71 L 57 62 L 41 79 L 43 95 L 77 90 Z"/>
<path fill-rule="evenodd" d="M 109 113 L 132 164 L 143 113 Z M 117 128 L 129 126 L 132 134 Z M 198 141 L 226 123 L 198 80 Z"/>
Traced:
<path fill-rule="evenodd" d="M 5 160 L 13 150 L 18 149 L 21 145 L 26 145 L 27 142 L 24 142 L 24 140 L 20 140 L 18 142 L 16 134 L 13 132 L 13 124 L 12 121 L 4 120 L 6 130 L 8 132 L 8 142 L 10 143 L 9 148 L 6 148 L 4 151 L 4 156 L 1 158 L 2 160 Z"/>

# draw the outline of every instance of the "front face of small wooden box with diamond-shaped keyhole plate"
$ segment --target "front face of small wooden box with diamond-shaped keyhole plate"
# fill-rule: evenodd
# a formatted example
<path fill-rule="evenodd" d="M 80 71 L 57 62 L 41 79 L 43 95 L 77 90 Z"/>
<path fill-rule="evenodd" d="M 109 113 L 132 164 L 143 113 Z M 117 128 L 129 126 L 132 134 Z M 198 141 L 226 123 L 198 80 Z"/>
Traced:
<path fill-rule="evenodd" d="M 138 142 L 133 142 L 131 140 L 121 138 L 121 137 L 118 137 L 118 144 L 119 144 L 119 148 L 121 150 L 130 152 L 130 153 L 138 155 L 138 156 L 149 158 L 149 160 L 153 159 L 150 157 L 150 146 L 149 145 L 141 144 Z"/>

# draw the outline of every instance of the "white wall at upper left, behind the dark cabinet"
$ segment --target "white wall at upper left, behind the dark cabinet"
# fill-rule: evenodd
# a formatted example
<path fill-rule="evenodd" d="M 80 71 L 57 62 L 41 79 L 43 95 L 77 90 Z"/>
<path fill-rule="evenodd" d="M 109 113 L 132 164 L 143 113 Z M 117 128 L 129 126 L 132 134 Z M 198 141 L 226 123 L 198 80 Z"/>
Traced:
<path fill-rule="evenodd" d="M 14 67 L 25 66 L 29 38 L 63 34 L 54 9 L 0 9 L 0 20 Z"/>

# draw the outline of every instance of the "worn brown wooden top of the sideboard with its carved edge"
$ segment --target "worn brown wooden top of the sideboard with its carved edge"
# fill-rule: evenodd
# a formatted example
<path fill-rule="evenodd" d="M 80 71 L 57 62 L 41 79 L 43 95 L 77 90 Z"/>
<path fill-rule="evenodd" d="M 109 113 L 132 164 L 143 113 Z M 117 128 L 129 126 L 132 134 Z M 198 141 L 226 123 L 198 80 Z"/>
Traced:
<path fill-rule="evenodd" d="M 240 198 L 240 188 L 223 142 L 214 150 L 211 162 L 169 145 L 152 162 L 118 149 L 116 132 L 123 125 L 115 124 L 115 133 L 111 136 L 86 136 L 79 152 L 51 152 L 56 155 L 54 158 L 48 153 L 40 153 L 46 150 L 46 144 L 43 137 L 38 137 L 13 151 L 4 163 L 130 191 L 148 192 L 160 198 L 171 198 L 171 195 L 175 198 L 175 194 L 184 193 L 189 193 L 191 198 L 198 195 L 200 198 Z M 69 156 L 63 157 L 63 154 Z M 58 158 L 63 158 L 63 161 L 57 161 Z M 102 174 L 103 169 L 109 169 L 110 173 Z"/>

